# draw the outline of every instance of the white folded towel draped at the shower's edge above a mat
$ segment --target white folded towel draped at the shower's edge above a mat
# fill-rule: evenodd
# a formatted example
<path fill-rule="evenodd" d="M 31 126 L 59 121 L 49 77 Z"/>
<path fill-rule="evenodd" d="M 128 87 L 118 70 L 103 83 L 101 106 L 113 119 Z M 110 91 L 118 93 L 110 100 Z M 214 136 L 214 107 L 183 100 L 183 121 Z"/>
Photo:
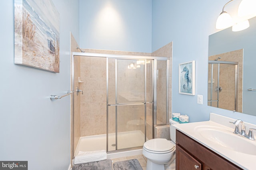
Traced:
<path fill-rule="evenodd" d="M 82 163 L 94 162 L 94 161 L 106 160 L 106 159 L 107 159 L 106 150 L 95 150 L 95 151 L 87 151 L 87 152 L 79 151 L 78 154 L 75 156 L 74 164 L 82 164 Z"/>

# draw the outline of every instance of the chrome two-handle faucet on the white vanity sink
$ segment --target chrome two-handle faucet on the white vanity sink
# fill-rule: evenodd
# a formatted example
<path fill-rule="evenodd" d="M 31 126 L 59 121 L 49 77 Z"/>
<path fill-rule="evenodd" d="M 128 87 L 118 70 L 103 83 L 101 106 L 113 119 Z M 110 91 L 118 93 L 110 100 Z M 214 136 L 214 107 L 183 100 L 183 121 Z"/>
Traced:
<path fill-rule="evenodd" d="M 256 129 L 250 128 L 249 133 L 246 134 L 246 130 L 245 130 L 246 126 L 244 125 L 244 122 L 242 120 L 238 119 L 234 122 L 230 121 L 229 123 L 236 125 L 235 130 L 233 132 L 234 134 L 240 135 L 242 137 L 246 137 L 247 139 L 250 139 L 250 140 L 255 140 L 253 135 L 253 130 L 256 130 Z M 241 124 L 241 131 L 239 130 L 239 126 L 238 126 L 239 124 Z"/>

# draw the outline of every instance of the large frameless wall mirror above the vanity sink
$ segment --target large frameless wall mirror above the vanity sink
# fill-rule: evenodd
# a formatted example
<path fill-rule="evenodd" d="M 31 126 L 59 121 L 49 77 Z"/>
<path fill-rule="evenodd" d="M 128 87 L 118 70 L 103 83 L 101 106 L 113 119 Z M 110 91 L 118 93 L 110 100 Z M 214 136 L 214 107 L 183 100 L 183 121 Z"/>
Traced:
<path fill-rule="evenodd" d="M 209 36 L 208 106 L 256 115 L 256 17 L 249 22 Z"/>

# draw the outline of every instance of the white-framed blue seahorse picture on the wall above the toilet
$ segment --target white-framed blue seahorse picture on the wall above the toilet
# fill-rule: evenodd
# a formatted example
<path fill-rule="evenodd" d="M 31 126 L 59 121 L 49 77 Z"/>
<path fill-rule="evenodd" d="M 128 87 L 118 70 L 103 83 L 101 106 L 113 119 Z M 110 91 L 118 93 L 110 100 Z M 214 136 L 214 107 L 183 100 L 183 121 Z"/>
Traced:
<path fill-rule="evenodd" d="M 195 95 L 195 61 L 179 64 L 179 93 Z"/>

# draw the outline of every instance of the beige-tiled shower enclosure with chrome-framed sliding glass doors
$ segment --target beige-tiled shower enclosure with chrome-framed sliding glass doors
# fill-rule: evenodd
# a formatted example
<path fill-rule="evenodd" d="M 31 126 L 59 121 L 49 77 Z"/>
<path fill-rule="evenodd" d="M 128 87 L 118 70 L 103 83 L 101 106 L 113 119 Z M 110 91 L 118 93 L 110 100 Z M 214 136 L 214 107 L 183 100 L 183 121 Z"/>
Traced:
<path fill-rule="evenodd" d="M 167 57 L 73 53 L 72 65 L 73 156 L 141 149 L 168 124 Z"/>

